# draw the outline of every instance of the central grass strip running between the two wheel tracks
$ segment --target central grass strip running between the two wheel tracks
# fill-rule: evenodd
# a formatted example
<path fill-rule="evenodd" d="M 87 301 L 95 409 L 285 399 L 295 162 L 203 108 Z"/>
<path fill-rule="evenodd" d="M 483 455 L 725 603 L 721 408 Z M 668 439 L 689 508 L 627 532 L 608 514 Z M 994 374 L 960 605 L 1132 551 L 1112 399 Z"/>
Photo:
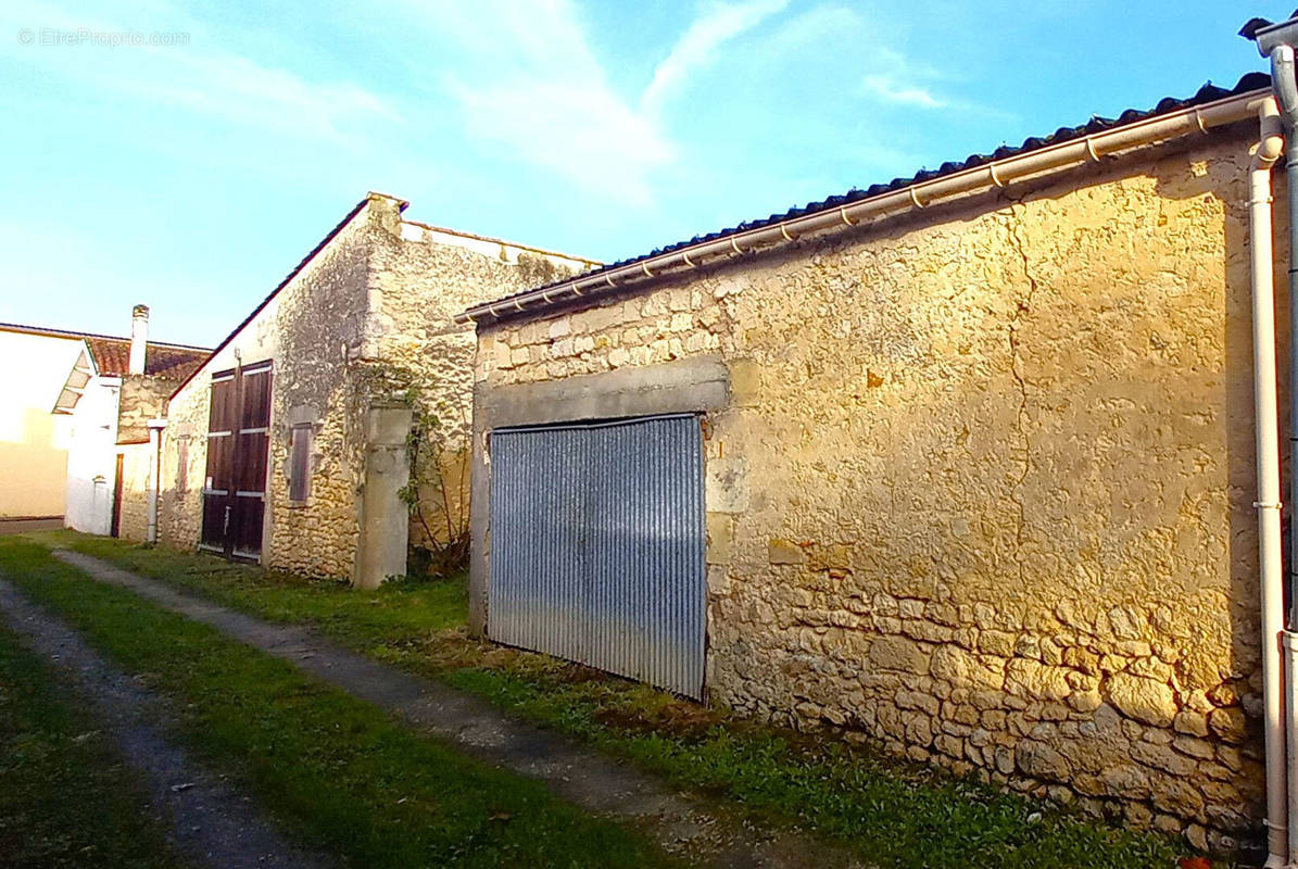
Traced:
<path fill-rule="evenodd" d="M 0 569 L 183 709 L 177 735 L 308 843 L 357 866 L 667 865 L 639 834 L 423 739 L 215 630 L 99 585 L 27 540 Z"/>

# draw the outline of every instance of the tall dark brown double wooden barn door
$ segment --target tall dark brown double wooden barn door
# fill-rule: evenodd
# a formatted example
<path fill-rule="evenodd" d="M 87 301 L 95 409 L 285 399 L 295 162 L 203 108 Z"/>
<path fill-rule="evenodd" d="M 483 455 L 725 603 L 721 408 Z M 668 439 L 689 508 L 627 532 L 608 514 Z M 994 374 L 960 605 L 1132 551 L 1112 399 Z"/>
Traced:
<path fill-rule="evenodd" d="M 200 549 L 248 561 L 261 556 L 270 386 L 269 361 L 212 375 Z"/>

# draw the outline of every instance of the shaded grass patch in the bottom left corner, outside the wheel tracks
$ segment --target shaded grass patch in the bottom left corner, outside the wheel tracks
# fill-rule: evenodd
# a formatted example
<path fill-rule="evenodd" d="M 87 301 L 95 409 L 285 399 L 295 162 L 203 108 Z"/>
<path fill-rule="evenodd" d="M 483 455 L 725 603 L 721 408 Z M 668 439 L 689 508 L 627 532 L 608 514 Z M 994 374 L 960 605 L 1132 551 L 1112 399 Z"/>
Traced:
<path fill-rule="evenodd" d="M 0 627 L 0 866 L 184 865 L 96 720 Z"/>

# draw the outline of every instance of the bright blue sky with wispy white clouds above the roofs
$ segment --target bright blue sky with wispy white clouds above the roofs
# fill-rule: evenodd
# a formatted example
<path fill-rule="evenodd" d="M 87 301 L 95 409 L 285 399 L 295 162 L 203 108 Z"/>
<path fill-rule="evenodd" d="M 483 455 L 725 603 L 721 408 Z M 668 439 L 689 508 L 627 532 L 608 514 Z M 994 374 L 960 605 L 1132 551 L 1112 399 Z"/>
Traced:
<path fill-rule="evenodd" d="M 1294 0 L 1288 0 L 1289 5 Z M 1275 0 L 0 9 L 0 321 L 215 343 L 367 190 L 615 260 L 1263 69 Z M 171 47 L 42 30 L 183 32 Z M 30 31 L 34 44 L 23 44 Z"/>

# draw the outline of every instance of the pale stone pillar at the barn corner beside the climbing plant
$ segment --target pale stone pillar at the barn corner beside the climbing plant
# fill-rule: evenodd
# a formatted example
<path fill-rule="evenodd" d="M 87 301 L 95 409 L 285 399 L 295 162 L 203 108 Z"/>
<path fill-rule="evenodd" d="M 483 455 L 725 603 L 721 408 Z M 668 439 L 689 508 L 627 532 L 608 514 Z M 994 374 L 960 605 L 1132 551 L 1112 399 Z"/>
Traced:
<path fill-rule="evenodd" d="M 405 405 L 371 405 L 365 420 L 365 483 L 361 492 L 361 536 L 352 585 L 378 588 L 388 577 L 406 572 L 410 510 L 401 490 L 410 482 L 413 412 Z"/>

